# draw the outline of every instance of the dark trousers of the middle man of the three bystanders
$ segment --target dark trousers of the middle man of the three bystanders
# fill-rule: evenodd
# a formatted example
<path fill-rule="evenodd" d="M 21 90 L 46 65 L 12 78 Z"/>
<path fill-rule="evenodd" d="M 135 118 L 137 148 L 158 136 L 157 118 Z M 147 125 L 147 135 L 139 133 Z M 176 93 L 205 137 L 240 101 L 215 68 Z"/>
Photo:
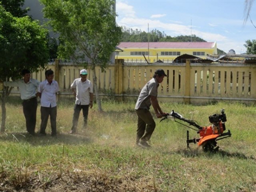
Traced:
<path fill-rule="evenodd" d="M 52 136 L 55 136 L 57 134 L 57 128 L 56 128 L 56 119 L 57 119 L 57 106 L 52 107 L 42 107 L 41 106 L 41 127 L 40 127 L 40 133 L 46 134 L 45 129 L 47 127 L 48 118 L 50 116 L 50 122 L 51 122 L 51 128 L 52 128 Z"/>

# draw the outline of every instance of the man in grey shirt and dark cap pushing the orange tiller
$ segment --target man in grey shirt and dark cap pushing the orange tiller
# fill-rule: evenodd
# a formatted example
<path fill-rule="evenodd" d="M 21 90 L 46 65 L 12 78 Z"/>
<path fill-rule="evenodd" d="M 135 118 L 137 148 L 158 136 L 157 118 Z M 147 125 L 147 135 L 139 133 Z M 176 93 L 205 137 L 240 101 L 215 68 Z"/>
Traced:
<path fill-rule="evenodd" d="M 157 101 L 157 88 L 165 76 L 167 75 L 164 73 L 164 70 L 156 70 L 153 78 L 148 81 L 140 91 L 139 98 L 135 105 L 138 116 L 136 144 L 143 148 L 150 147 L 147 141 L 150 140 L 156 127 L 156 123 L 149 111 L 150 106 L 153 106 L 157 118 L 166 115 L 166 113 L 163 113 L 161 110 Z"/>

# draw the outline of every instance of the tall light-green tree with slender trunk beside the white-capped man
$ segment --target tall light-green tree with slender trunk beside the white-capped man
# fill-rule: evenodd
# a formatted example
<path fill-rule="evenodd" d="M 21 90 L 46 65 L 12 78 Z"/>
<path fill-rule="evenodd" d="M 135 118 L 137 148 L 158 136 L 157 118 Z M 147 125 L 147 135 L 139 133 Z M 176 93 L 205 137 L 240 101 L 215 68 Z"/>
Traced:
<path fill-rule="evenodd" d="M 93 86 L 102 111 L 95 67 L 108 67 L 110 55 L 119 44 L 122 31 L 116 25 L 113 0 L 41 0 L 44 16 L 62 44 L 58 57 L 80 61 L 93 72 Z"/>

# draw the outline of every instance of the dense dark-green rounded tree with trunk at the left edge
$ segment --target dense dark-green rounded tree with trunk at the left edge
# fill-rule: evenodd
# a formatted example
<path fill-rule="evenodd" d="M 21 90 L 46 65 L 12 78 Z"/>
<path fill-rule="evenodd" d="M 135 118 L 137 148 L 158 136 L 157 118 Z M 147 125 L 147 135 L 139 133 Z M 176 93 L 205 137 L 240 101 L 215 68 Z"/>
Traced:
<path fill-rule="evenodd" d="M 37 71 L 47 64 L 48 58 L 47 30 L 28 16 L 13 17 L 0 6 L 0 81 L 19 79 L 24 68 Z M 5 104 L 11 90 L 12 87 L 3 87 L 0 132 L 5 131 Z"/>

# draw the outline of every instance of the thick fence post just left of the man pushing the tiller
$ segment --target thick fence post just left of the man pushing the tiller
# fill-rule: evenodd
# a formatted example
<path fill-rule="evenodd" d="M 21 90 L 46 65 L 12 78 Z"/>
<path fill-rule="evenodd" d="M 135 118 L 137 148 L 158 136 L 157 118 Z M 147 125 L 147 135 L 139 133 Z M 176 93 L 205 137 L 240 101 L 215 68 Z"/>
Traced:
<path fill-rule="evenodd" d="M 115 60 L 115 94 L 121 95 L 123 93 L 123 79 L 124 79 L 124 59 Z M 121 99 L 122 101 L 122 96 Z"/>

